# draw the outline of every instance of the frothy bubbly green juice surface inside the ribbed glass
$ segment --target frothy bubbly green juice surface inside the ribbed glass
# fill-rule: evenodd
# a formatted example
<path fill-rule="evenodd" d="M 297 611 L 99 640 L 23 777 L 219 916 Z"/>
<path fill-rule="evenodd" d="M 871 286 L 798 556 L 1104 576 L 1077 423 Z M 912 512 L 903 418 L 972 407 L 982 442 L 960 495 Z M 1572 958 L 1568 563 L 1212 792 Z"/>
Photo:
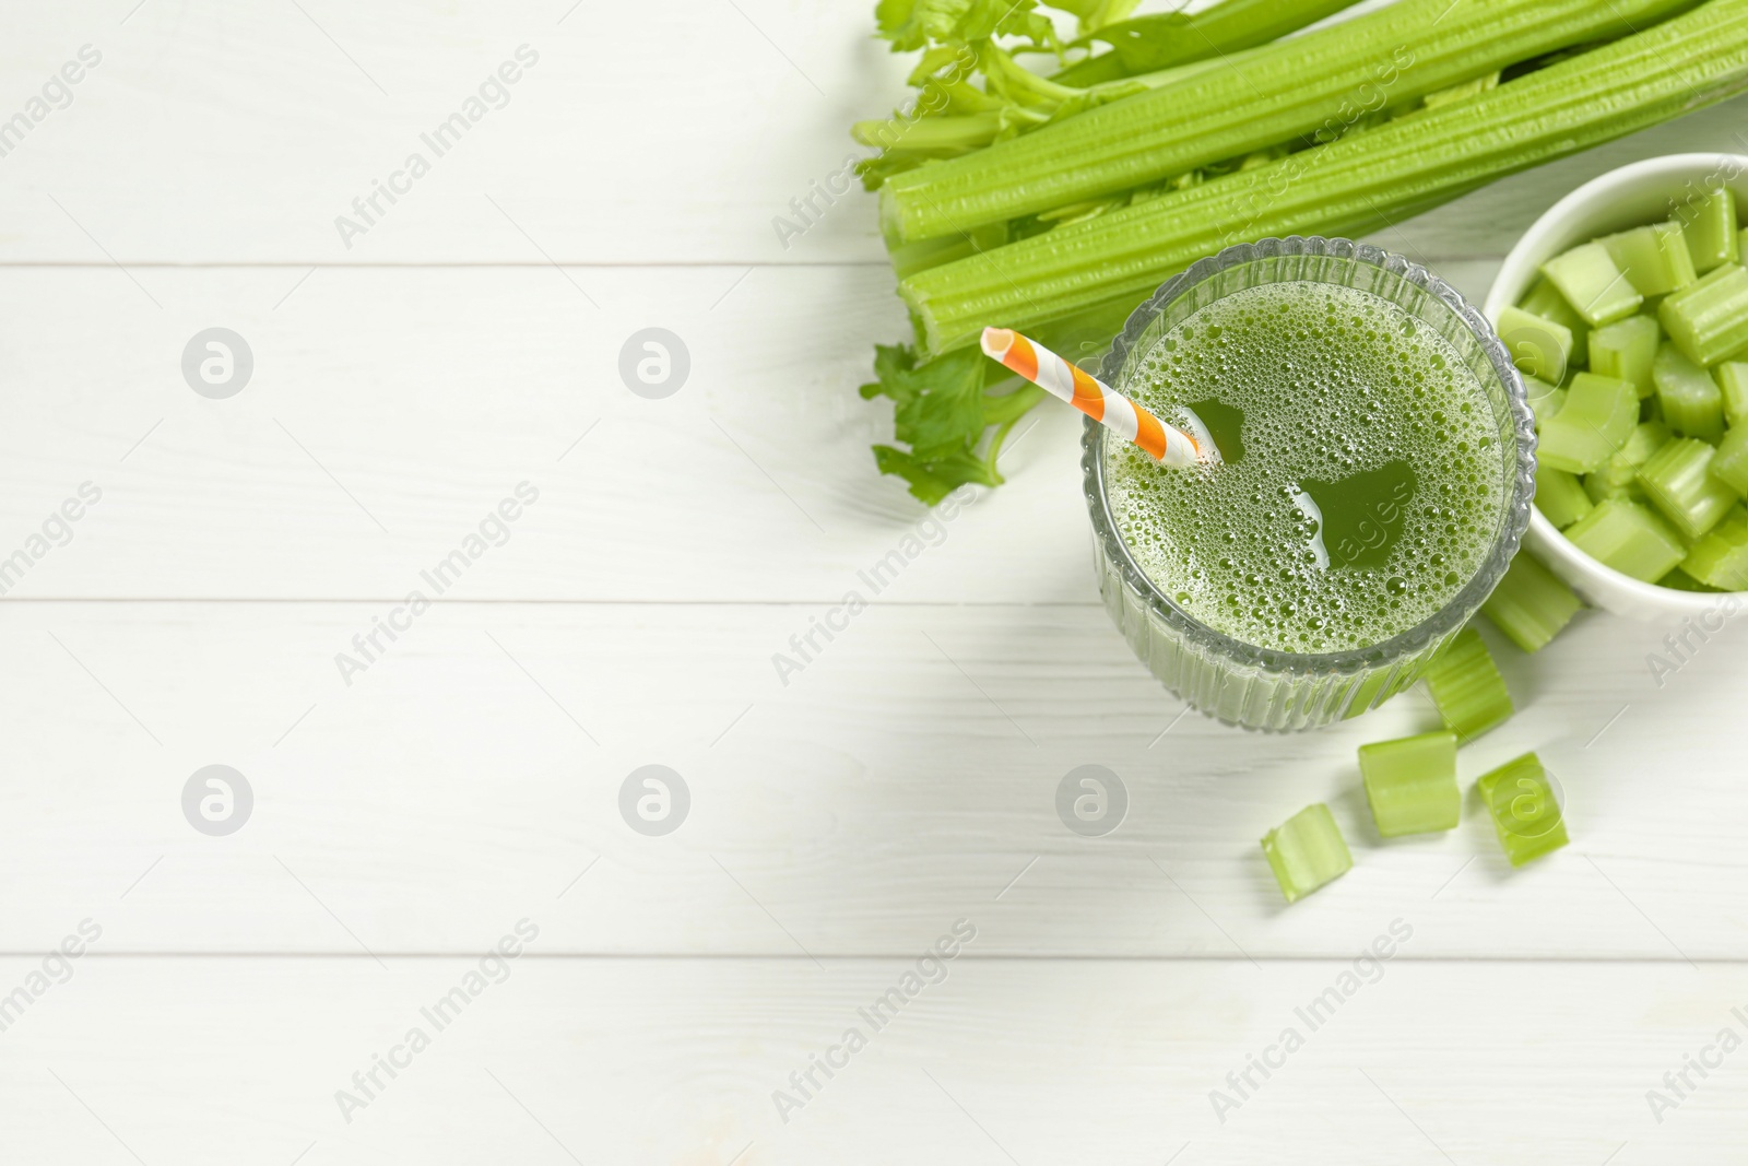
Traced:
<path fill-rule="evenodd" d="M 1220 463 L 1106 442 L 1112 514 L 1159 591 L 1234 640 L 1363 649 L 1444 608 L 1505 509 L 1486 390 L 1426 323 L 1370 292 L 1269 283 L 1166 332 L 1126 385 L 1201 427 Z"/>

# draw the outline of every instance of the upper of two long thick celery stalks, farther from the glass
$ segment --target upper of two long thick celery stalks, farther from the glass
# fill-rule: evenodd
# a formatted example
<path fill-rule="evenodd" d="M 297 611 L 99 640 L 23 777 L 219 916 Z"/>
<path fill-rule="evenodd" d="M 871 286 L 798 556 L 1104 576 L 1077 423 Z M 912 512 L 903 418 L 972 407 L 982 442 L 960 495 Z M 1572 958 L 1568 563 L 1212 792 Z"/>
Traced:
<path fill-rule="evenodd" d="M 1652 23 L 1692 0 L 1397 0 L 881 189 L 891 245 L 958 236 L 1288 142 L 1339 136 L 1505 65 Z M 1613 9 L 1613 10 L 1612 10 Z"/>

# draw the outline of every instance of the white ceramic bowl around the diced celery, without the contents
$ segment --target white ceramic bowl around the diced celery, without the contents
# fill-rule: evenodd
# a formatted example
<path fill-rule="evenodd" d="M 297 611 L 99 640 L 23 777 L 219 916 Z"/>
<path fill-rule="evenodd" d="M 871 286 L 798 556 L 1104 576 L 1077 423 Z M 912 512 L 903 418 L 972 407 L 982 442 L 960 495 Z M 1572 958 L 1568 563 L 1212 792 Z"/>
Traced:
<path fill-rule="evenodd" d="M 1505 257 L 1505 266 L 1493 281 L 1493 290 L 1488 292 L 1482 313 L 1498 323 L 1500 311 L 1523 299 L 1542 264 L 1554 255 L 1599 234 L 1668 219 L 1669 199 L 1685 198 L 1689 182 L 1696 191 L 1724 184 L 1736 192 L 1738 201 L 1748 199 L 1748 157 L 1669 154 L 1622 166 L 1584 184 L 1536 219 L 1535 226 L 1517 239 L 1517 246 Z M 1648 622 L 1678 621 L 1683 615 L 1708 612 L 1724 600 L 1718 594 L 1673 591 L 1640 582 L 1612 566 L 1603 566 L 1566 542 L 1542 510 L 1531 510 L 1524 545 L 1573 591 L 1615 615 Z M 1748 593 L 1738 594 L 1748 600 Z"/>

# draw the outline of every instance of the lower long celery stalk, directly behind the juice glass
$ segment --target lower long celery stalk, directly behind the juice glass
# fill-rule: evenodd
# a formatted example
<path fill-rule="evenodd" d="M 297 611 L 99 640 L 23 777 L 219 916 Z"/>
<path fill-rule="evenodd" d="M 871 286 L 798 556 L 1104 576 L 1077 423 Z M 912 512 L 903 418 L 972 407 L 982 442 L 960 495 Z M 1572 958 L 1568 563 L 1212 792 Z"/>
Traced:
<path fill-rule="evenodd" d="M 1495 19 L 1496 7 L 1460 3 L 1449 19 L 1470 10 Z M 1517 10 L 1516 3 L 1503 7 Z M 1619 14 L 1610 12 L 1610 19 Z M 1467 101 L 932 267 L 904 280 L 898 294 L 926 353 L 974 344 L 986 325 L 1014 327 L 1056 346 L 1075 336 L 1108 339 L 1164 280 L 1227 243 L 1363 233 L 1379 215 L 1430 208 L 1505 173 L 1724 100 L 1743 84 L 1748 0 L 1708 0 Z M 1248 107 L 1252 96 L 1234 98 L 1232 107 Z M 1080 126 L 1086 117 L 1092 114 L 1068 124 Z M 1133 128 L 1126 133 L 1133 136 Z M 1072 154 L 1065 150 L 1065 157 Z"/>

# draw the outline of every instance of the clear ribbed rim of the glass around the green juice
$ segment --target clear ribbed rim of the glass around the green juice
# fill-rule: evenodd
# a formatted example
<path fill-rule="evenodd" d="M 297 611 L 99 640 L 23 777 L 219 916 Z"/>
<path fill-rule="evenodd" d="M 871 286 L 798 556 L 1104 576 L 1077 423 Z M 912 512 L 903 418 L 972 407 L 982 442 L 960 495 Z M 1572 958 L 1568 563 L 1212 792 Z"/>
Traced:
<path fill-rule="evenodd" d="M 1402 255 L 1395 255 L 1369 243 L 1330 239 L 1323 236 L 1306 238 L 1295 234 L 1285 239 L 1271 238 L 1262 239 L 1260 243 L 1241 243 L 1238 246 L 1225 248 L 1218 255 L 1199 259 L 1187 271 L 1161 285 L 1161 288 L 1154 292 L 1145 304 L 1129 315 L 1122 334 L 1112 341 L 1110 351 L 1105 353 L 1099 376 L 1106 385 L 1120 390 L 1124 365 L 1129 362 L 1131 353 L 1134 353 L 1145 339 L 1148 325 L 1152 325 L 1154 320 L 1164 313 L 1166 306 L 1185 295 L 1196 285 L 1204 283 L 1231 267 L 1267 259 L 1292 257 L 1339 259 L 1369 264 L 1395 274 L 1416 288 L 1421 288 L 1428 295 L 1442 301 L 1453 311 L 1453 315 L 1474 336 L 1475 343 L 1481 344 L 1481 351 L 1486 355 L 1488 364 L 1493 365 L 1495 374 L 1500 378 L 1500 386 L 1505 390 L 1505 402 L 1512 414 L 1510 428 L 1517 441 L 1516 475 L 1510 482 L 1510 503 L 1505 507 L 1500 530 L 1493 540 L 1493 549 L 1488 552 L 1481 570 L 1475 572 L 1475 577 L 1470 579 L 1439 612 L 1414 628 L 1397 633 L 1390 640 L 1381 640 L 1379 643 L 1370 643 L 1363 649 L 1318 654 L 1264 649 L 1255 643 L 1236 640 L 1201 622 L 1161 593 L 1159 587 L 1147 579 L 1141 568 L 1136 566 L 1134 558 L 1129 554 L 1129 547 L 1117 528 L 1115 516 L 1110 512 L 1110 498 L 1105 489 L 1105 437 L 1108 430 L 1091 418 L 1087 418 L 1086 430 L 1080 439 L 1082 482 L 1087 509 L 1092 516 L 1092 530 L 1103 545 L 1105 554 L 1117 565 L 1124 582 L 1147 601 L 1150 612 L 1182 635 L 1192 647 L 1217 652 L 1239 666 L 1259 668 L 1273 673 L 1358 673 L 1388 664 L 1390 661 L 1414 656 L 1428 645 L 1453 635 L 1465 622 L 1468 622 L 1468 619 L 1481 610 L 1486 598 L 1493 594 L 1493 589 L 1498 586 L 1500 579 L 1503 579 L 1512 558 L 1516 558 L 1517 549 L 1523 545 L 1524 530 L 1530 526 L 1530 507 L 1535 500 L 1535 418 L 1530 413 L 1530 399 L 1524 390 L 1523 378 L 1512 365 L 1510 355 L 1505 351 L 1505 344 L 1495 334 L 1493 325 L 1488 323 L 1486 316 L 1463 299 L 1456 288 L 1430 273 L 1426 267 L 1411 262 Z"/>

